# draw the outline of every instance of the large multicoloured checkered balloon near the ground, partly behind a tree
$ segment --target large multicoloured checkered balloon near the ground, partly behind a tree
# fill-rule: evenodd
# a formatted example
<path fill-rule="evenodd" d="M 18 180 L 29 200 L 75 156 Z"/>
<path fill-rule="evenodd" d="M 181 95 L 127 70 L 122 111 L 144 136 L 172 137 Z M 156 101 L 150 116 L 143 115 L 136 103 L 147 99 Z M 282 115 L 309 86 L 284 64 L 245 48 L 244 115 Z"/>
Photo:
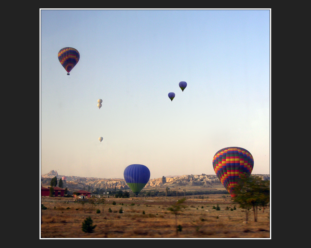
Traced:
<path fill-rule="evenodd" d="M 234 186 L 242 174 L 250 176 L 254 167 L 252 154 L 241 147 L 220 149 L 213 157 L 213 168 L 226 190 L 234 197 Z"/>

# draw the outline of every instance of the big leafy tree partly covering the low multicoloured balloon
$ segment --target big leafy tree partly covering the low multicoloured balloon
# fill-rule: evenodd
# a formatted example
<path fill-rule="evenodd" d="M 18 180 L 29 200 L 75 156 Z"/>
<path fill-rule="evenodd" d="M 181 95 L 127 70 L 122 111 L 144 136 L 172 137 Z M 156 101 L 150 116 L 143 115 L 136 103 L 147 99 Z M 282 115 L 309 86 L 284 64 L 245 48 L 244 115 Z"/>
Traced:
<path fill-rule="evenodd" d="M 253 209 L 254 221 L 257 222 L 258 206 L 267 206 L 270 202 L 270 182 L 262 180 L 259 176 L 243 174 L 239 183 L 234 187 L 234 202 L 246 209 L 246 221 L 248 210 Z"/>

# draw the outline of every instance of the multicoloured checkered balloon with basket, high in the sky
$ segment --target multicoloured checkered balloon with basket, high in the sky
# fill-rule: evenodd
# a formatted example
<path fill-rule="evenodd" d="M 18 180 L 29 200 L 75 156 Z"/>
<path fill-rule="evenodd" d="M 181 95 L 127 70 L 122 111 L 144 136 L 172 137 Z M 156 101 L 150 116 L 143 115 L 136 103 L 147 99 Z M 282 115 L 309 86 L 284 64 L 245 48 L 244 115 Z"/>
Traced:
<path fill-rule="evenodd" d="M 67 71 L 67 75 L 70 75 L 70 71 L 79 62 L 80 53 L 77 49 L 72 47 L 64 47 L 58 52 L 58 60 Z"/>

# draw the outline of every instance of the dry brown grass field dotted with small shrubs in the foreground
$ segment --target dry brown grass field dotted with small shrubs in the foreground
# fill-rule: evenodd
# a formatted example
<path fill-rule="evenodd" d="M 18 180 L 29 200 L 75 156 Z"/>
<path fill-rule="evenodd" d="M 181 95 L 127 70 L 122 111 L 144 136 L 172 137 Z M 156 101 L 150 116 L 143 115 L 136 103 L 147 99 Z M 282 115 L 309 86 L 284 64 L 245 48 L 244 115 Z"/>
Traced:
<path fill-rule="evenodd" d="M 82 205 L 74 198 L 41 197 L 47 207 L 42 210 L 41 238 L 270 238 L 269 208 L 258 211 L 257 222 L 251 211 L 245 223 L 245 210 L 231 197 L 223 196 L 186 196 L 185 208 L 178 215 L 178 225 L 182 226 L 178 234 L 175 215 L 168 207 L 183 198 L 180 196 L 110 197 L 98 205 L 98 199 L 95 204 Z M 213 209 L 217 204 L 218 211 Z M 231 211 L 234 206 L 236 210 Z M 119 213 L 121 207 L 123 212 Z M 96 213 L 97 209 L 100 213 Z M 82 231 L 82 222 L 88 217 L 96 225 L 93 233 Z"/>

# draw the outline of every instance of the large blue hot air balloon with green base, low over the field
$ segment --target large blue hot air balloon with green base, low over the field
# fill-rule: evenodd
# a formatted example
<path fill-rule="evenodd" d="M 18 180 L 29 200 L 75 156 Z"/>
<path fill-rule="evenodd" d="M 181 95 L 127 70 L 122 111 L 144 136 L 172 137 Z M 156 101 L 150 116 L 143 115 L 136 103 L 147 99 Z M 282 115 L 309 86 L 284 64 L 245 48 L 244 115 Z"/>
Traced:
<path fill-rule="evenodd" d="M 125 168 L 123 175 L 128 187 L 138 195 L 150 179 L 150 170 L 147 166 L 133 164 Z"/>

